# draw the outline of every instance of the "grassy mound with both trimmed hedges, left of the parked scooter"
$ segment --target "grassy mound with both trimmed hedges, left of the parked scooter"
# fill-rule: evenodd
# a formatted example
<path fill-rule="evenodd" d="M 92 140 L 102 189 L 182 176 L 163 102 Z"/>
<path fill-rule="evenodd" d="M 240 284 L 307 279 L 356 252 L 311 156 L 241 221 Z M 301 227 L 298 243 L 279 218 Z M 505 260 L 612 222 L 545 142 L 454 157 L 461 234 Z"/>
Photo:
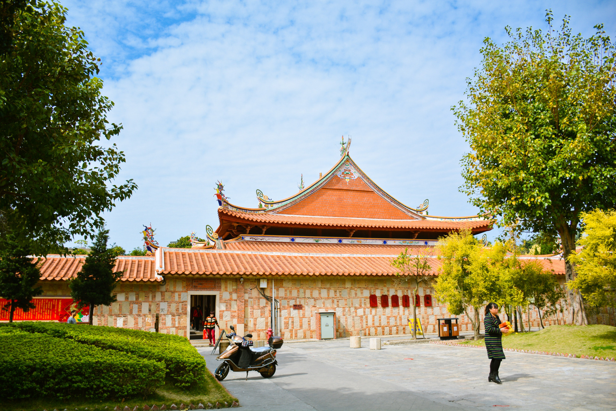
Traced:
<path fill-rule="evenodd" d="M 0 324 L 0 411 L 237 401 L 183 337 L 57 322 Z"/>

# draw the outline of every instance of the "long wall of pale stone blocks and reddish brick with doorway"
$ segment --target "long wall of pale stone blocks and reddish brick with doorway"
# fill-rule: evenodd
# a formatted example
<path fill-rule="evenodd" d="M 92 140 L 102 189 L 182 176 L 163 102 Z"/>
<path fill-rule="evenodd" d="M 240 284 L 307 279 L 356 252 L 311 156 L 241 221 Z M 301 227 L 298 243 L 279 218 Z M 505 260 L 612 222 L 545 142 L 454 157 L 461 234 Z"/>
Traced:
<path fill-rule="evenodd" d="M 65 281 L 41 281 L 43 297 L 70 298 L 70 289 Z M 268 279 L 266 295 L 272 292 L 272 279 Z M 159 332 L 187 337 L 188 303 L 190 292 L 213 292 L 217 295 L 217 317 L 222 328 L 243 325 L 244 332 L 253 333 L 255 340 L 265 339 L 265 330 L 270 327 L 270 303 L 259 293 L 258 280 L 237 277 L 166 276 L 160 282 L 122 281 L 115 290 L 118 301 L 110 306 L 97 306 L 94 310 L 94 324 L 110 327 L 124 327 L 153 331 L 155 317 L 159 314 Z M 274 279 L 275 298 L 280 301 L 281 334 L 285 339 L 319 338 L 317 318 L 320 312 L 336 314 L 336 337 L 387 336 L 410 334 L 407 319 L 413 317 L 412 307 L 370 307 L 369 296 L 383 294 L 412 295 L 410 287 L 396 286 L 391 278 L 375 276 L 281 276 Z M 434 306 L 424 306 L 423 295 L 434 296 L 430 284 L 419 287 L 421 306 L 416 307 L 417 317 L 424 332 L 436 333 L 436 319 L 453 317 L 447 307 L 439 305 L 432 298 Z M 411 298 L 412 304 L 412 298 Z M 295 309 L 294 305 L 301 305 Z M 472 315 L 472 312 L 469 313 Z M 556 321 L 552 316 L 543 320 L 544 325 L 563 324 L 562 314 Z M 472 332 L 472 325 L 466 314 L 460 318 L 460 331 Z M 566 318 L 565 313 L 565 318 Z M 593 318 L 597 318 L 595 316 Z M 611 316 L 606 317 L 608 320 Z M 483 311 L 480 313 L 483 320 Z M 505 317 L 502 318 L 503 320 Z M 523 314 L 524 325 L 528 325 L 527 313 Z M 592 319 L 589 317 L 589 320 Z M 539 327 L 537 309 L 530 309 L 530 324 Z M 609 322 L 607 322 L 609 324 Z M 483 329 L 483 324 L 480 327 Z M 238 327 L 238 331 L 241 327 Z"/>

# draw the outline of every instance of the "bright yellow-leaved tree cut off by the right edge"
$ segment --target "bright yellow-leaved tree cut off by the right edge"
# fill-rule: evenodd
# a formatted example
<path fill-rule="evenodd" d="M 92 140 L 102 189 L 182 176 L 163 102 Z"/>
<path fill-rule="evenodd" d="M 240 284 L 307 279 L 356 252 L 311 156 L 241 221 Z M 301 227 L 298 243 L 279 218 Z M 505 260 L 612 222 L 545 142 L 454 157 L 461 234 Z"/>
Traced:
<path fill-rule="evenodd" d="M 577 264 L 577 277 L 569 287 L 580 290 L 591 306 L 614 306 L 616 298 L 616 211 L 582 213 L 585 236 L 580 252 L 569 260 Z"/>

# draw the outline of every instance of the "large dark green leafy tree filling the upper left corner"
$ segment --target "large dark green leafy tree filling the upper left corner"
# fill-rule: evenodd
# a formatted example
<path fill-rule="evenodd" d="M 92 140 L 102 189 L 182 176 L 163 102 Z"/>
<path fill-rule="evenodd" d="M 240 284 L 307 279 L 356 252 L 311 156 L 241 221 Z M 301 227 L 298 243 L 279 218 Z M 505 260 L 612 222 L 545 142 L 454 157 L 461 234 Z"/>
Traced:
<path fill-rule="evenodd" d="M 124 153 L 98 142 L 122 127 L 107 121 L 113 102 L 100 94 L 100 59 L 83 31 L 64 25 L 57 2 L 6 4 L 14 24 L 0 58 L 0 214 L 18 241 L 36 240 L 33 252 L 67 252 L 62 244 L 94 238 L 103 212 L 137 185 L 110 183 Z"/>

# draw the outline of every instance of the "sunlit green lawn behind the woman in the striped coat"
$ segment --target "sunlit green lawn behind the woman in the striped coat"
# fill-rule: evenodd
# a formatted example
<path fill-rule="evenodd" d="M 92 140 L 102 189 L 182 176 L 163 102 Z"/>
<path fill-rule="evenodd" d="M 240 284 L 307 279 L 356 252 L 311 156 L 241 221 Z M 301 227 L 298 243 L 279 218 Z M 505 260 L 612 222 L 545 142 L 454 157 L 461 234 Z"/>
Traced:
<path fill-rule="evenodd" d="M 485 346 L 483 340 L 461 344 Z M 616 357 L 616 327 L 610 325 L 551 325 L 537 332 L 503 337 L 503 348 L 530 349 L 593 357 Z M 506 355 L 506 354 L 505 354 Z"/>

